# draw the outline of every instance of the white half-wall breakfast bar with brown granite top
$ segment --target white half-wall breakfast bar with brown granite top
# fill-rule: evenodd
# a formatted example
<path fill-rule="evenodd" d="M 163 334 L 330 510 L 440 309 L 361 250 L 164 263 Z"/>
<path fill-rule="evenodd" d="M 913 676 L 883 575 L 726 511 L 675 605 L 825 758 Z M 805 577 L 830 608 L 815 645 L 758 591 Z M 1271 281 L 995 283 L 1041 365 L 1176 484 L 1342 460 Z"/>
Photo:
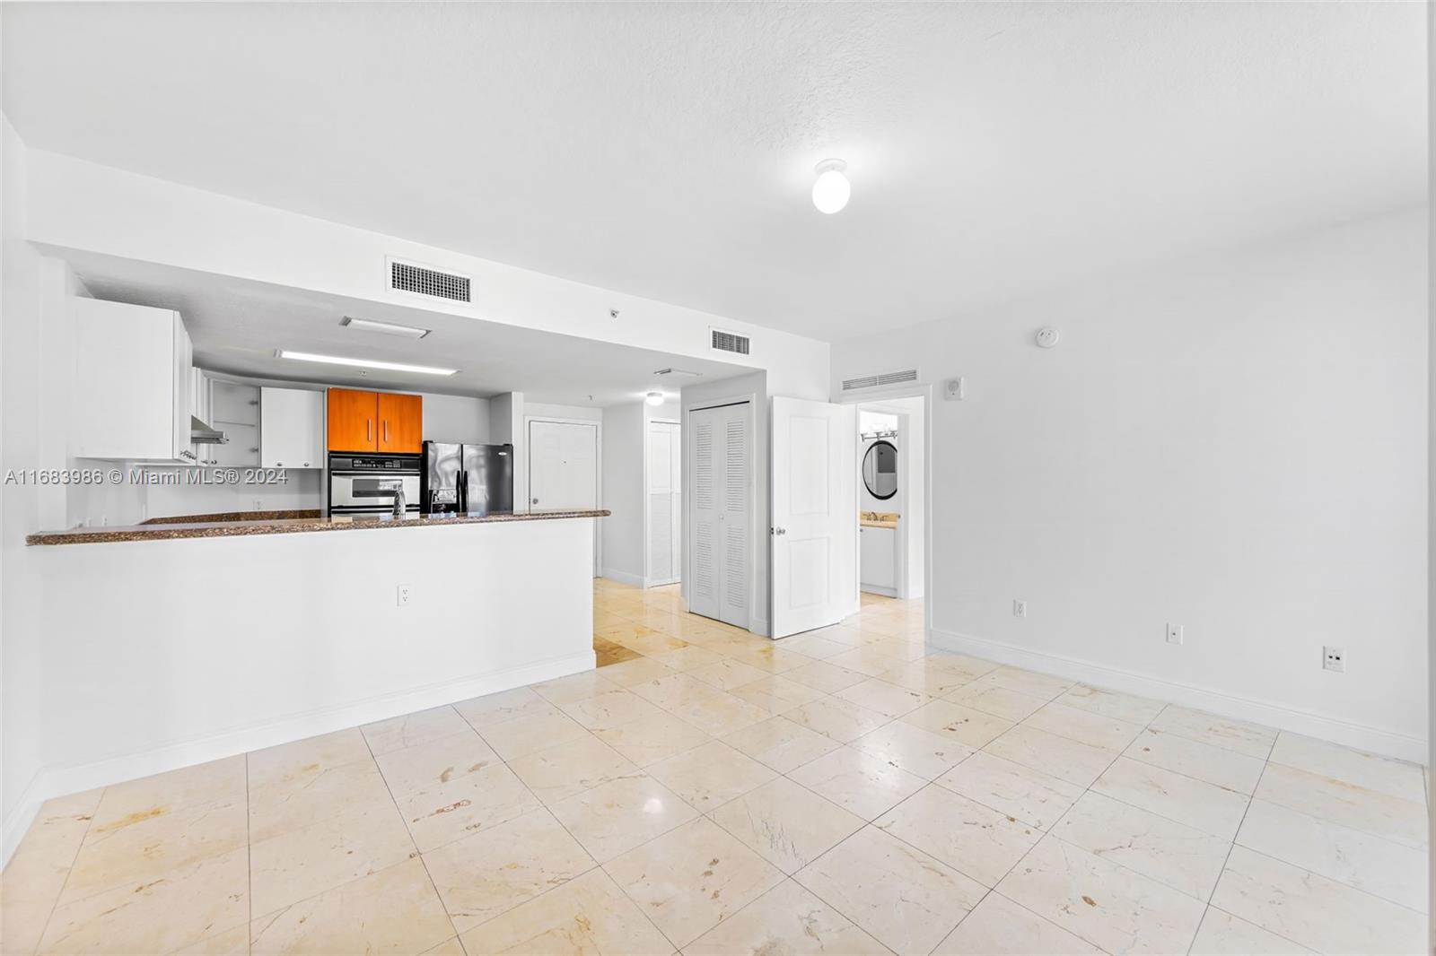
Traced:
<path fill-rule="evenodd" d="M 55 792 L 358 726 L 595 666 L 609 512 L 267 518 L 29 537 Z M 65 547 L 56 547 L 65 545 Z M 83 591 L 75 583 L 83 581 Z"/>

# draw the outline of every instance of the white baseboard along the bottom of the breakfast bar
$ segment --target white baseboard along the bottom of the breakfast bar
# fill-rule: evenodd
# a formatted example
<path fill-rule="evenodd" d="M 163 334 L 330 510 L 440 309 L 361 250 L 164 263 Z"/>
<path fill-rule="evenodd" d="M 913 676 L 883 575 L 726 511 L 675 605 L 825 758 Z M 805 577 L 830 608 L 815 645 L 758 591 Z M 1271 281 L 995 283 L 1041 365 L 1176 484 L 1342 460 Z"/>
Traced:
<path fill-rule="evenodd" d="M 460 678 L 444 683 L 386 693 L 353 703 L 296 713 L 277 721 L 221 731 L 202 738 L 181 741 L 167 746 L 123 754 L 90 764 L 72 767 L 46 767 L 26 785 L 14 808 L 6 814 L 4 830 L 0 833 L 0 866 L 10 861 L 10 854 L 20 845 L 20 838 L 30 827 L 40 805 L 55 797 L 78 794 L 96 787 L 108 787 L 126 779 L 164 774 L 165 771 L 217 761 L 236 754 L 247 754 L 277 744 L 302 741 L 319 734 L 332 734 L 375 721 L 386 721 L 415 711 L 444 706 L 478 698 L 485 693 L 511 690 L 541 680 L 553 680 L 580 670 L 592 670 L 596 665 L 593 650 L 543 660 L 524 667 L 501 670 L 480 676 Z"/>

